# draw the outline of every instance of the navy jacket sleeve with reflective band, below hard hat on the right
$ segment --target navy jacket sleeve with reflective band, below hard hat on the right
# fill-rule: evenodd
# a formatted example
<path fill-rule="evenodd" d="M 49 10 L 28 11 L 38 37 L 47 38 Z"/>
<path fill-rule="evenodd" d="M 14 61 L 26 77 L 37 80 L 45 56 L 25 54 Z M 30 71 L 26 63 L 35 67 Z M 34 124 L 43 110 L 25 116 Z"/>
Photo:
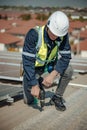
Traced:
<path fill-rule="evenodd" d="M 59 57 L 55 66 L 55 70 L 60 74 L 67 69 L 71 59 L 71 47 L 69 44 L 68 34 L 64 36 L 62 43 L 59 46 Z"/>

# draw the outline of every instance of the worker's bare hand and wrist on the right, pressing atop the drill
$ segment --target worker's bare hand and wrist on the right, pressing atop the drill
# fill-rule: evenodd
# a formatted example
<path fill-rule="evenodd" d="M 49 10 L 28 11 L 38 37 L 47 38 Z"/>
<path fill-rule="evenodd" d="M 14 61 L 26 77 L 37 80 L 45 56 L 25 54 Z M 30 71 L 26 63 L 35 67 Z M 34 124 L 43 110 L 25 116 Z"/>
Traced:
<path fill-rule="evenodd" d="M 58 72 L 53 70 L 50 74 L 44 77 L 43 84 L 45 87 L 50 87 L 53 84 L 55 77 L 58 75 Z"/>

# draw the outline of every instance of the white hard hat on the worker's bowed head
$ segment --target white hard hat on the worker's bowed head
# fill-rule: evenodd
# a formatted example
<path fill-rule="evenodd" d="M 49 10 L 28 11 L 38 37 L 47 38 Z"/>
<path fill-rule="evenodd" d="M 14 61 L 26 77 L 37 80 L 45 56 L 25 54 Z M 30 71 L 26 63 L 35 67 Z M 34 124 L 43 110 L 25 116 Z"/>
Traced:
<path fill-rule="evenodd" d="M 61 11 L 54 12 L 48 19 L 47 27 L 56 36 L 64 36 L 68 32 L 68 17 Z"/>

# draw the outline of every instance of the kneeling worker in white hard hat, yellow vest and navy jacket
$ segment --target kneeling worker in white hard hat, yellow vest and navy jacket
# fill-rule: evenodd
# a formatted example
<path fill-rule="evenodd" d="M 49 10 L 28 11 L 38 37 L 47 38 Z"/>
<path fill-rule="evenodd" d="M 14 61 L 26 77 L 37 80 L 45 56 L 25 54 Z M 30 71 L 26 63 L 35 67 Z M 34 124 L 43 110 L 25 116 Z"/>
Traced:
<path fill-rule="evenodd" d="M 73 74 L 69 65 L 71 48 L 68 29 L 67 15 L 56 11 L 48 18 L 46 25 L 36 26 L 27 32 L 22 52 L 24 103 L 30 105 L 34 97 L 39 98 L 38 76 L 47 71 L 42 82 L 45 87 L 49 88 L 56 78 L 59 80 L 50 103 L 57 110 L 66 110 L 63 94 Z"/>

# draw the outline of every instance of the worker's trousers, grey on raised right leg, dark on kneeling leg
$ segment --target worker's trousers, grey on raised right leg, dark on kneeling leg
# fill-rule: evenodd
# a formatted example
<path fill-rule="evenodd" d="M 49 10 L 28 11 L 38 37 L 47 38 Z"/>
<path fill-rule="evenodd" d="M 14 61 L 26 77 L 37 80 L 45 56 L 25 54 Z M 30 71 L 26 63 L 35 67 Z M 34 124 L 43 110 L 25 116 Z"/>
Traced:
<path fill-rule="evenodd" d="M 38 75 L 38 74 L 37 74 Z M 66 87 L 68 86 L 68 83 L 71 80 L 71 77 L 73 75 L 73 69 L 72 67 L 69 65 L 68 68 L 66 69 L 66 71 L 60 75 L 60 78 L 58 79 L 58 86 L 56 89 L 55 94 L 59 95 L 59 96 L 63 96 Z M 32 86 L 29 85 L 29 82 L 26 78 L 26 75 L 24 73 L 23 75 L 23 88 L 24 88 L 24 102 L 26 104 L 31 104 L 34 101 L 34 97 L 31 95 L 31 93 L 28 91 L 28 89 L 31 89 Z"/>

